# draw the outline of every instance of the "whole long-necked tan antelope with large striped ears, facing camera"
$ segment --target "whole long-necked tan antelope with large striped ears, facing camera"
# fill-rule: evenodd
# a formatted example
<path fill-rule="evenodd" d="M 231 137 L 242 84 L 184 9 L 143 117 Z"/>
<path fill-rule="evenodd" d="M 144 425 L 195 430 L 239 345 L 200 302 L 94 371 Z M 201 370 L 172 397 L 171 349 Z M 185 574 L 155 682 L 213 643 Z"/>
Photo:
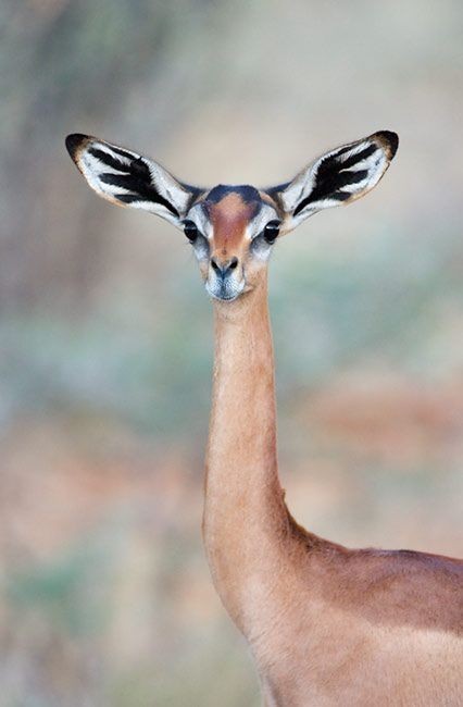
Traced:
<path fill-rule="evenodd" d="M 461 705 L 463 563 L 322 539 L 292 519 L 278 479 L 271 252 L 308 216 L 376 186 L 397 135 L 330 150 L 267 189 L 201 189 L 97 138 L 72 135 L 66 145 L 100 196 L 184 231 L 213 300 L 203 537 L 267 707 Z"/>

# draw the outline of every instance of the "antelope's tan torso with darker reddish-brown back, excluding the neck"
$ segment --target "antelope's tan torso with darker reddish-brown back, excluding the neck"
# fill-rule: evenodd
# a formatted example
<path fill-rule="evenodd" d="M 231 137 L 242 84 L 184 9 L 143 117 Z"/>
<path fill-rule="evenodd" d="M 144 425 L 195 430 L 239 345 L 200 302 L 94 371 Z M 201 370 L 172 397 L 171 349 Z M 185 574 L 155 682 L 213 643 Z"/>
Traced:
<path fill-rule="evenodd" d="M 462 561 L 309 533 L 304 547 L 255 650 L 268 706 L 463 705 Z"/>

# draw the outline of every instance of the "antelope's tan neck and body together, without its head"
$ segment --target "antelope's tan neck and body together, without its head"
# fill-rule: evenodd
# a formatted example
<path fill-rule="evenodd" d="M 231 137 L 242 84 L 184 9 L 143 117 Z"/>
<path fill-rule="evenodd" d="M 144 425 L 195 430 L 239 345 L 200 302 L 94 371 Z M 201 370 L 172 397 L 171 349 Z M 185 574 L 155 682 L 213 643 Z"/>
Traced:
<path fill-rule="evenodd" d="M 214 305 L 203 519 L 215 587 L 266 705 L 461 705 L 462 563 L 351 550 L 301 529 L 285 506 L 266 300 L 263 271 L 252 292 Z"/>

